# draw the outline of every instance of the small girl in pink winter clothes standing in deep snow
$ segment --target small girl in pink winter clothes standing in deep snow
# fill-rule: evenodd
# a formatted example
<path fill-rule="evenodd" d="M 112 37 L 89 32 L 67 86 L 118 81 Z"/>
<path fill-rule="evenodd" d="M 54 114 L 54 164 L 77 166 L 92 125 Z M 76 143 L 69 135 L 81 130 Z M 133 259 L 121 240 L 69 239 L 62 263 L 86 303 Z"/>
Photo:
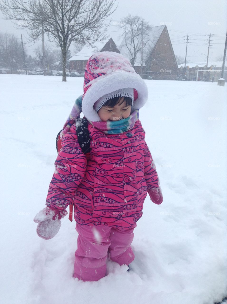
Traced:
<path fill-rule="evenodd" d="M 162 203 L 159 178 L 138 119 L 147 98 L 145 81 L 121 54 L 99 52 L 89 58 L 84 94 L 77 98 L 61 132 L 47 207 L 34 218 L 39 223 L 37 234 L 51 239 L 68 214 L 65 209 L 73 204 L 79 234 L 74 278 L 103 278 L 107 257 L 129 265 L 134 260 L 133 230 L 147 193 L 152 202 Z M 76 129 L 81 111 L 90 141 L 85 154 Z"/>

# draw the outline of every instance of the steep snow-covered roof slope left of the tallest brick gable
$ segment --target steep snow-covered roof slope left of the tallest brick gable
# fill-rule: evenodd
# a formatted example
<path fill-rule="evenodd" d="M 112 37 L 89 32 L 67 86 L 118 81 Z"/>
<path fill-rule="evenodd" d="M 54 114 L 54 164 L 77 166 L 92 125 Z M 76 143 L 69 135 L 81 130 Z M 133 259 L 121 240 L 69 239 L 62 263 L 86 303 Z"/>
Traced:
<path fill-rule="evenodd" d="M 145 61 L 148 59 L 152 50 L 154 49 L 161 33 L 163 32 L 164 27 L 165 25 L 152 26 L 149 34 L 144 37 L 144 42 L 147 41 L 147 43 L 143 48 L 143 66 L 145 66 Z M 130 53 L 125 45 L 124 39 L 122 40 L 122 43 L 120 44 L 118 49 L 123 56 L 131 58 Z M 134 66 L 141 66 L 141 52 L 138 52 Z"/>

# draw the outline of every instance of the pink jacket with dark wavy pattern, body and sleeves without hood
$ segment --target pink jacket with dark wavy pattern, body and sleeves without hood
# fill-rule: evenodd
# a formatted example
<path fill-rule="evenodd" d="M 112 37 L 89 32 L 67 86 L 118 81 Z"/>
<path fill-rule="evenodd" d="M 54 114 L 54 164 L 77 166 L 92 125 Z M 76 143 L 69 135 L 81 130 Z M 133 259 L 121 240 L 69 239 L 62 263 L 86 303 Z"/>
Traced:
<path fill-rule="evenodd" d="M 133 227 L 143 202 L 159 178 L 140 120 L 119 134 L 106 134 L 88 122 L 89 154 L 83 154 L 75 124 L 62 139 L 46 205 L 74 205 L 74 219 L 85 225 Z"/>

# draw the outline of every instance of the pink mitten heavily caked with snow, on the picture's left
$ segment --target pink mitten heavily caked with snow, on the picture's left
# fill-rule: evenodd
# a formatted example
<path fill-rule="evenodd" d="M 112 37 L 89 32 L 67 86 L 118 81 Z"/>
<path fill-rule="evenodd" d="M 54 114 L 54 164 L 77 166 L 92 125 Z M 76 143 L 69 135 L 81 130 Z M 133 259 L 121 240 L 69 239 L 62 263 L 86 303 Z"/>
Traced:
<path fill-rule="evenodd" d="M 45 207 L 34 217 L 34 222 L 38 223 L 36 232 L 44 240 L 52 239 L 58 233 L 61 227 L 61 218 L 66 216 L 66 210 L 60 210 L 52 207 Z"/>

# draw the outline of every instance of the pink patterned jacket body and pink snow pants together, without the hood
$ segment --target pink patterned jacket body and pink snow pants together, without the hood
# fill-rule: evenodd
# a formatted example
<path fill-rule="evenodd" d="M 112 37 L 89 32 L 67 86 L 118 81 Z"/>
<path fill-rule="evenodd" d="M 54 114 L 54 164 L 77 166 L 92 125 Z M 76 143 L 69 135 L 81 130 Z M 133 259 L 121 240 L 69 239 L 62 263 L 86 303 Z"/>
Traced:
<path fill-rule="evenodd" d="M 134 260 L 133 230 L 159 178 L 138 117 L 125 132 L 107 134 L 90 122 L 88 132 L 87 155 L 78 143 L 76 123 L 63 137 L 46 205 L 66 209 L 73 203 L 79 233 L 74 277 L 97 281 L 105 276 L 107 255 L 120 265 Z"/>

